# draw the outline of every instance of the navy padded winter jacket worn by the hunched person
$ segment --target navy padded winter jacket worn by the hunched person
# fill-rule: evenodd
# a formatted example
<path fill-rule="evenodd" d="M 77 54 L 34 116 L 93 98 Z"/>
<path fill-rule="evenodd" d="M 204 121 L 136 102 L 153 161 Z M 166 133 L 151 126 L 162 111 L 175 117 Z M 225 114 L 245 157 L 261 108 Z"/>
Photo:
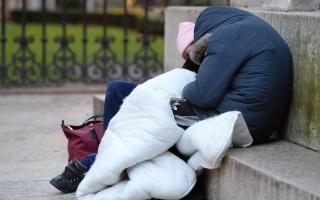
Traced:
<path fill-rule="evenodd" d="M 198 78 L 185 87 L 184 97 L 215 113 L 241 111 L 254 142 L 266 142 L 284 123 L 290 103 L 288 46 L 268 23 L 230 7 L 210 7 L 200 14 L 195 41 L 207 33 Z"/>

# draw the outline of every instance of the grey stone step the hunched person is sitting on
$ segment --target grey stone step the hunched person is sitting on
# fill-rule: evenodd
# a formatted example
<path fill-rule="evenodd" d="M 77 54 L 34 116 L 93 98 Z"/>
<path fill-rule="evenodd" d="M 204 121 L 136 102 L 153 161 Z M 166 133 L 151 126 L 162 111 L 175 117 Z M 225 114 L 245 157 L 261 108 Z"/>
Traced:
<path fill-rule="evenodd" d="M 104 95 L 93 102 L 102 113 Z M 320 200 L 320 154 L 284 140 L 232 149 L 206 173 L 209 200 Z"/>

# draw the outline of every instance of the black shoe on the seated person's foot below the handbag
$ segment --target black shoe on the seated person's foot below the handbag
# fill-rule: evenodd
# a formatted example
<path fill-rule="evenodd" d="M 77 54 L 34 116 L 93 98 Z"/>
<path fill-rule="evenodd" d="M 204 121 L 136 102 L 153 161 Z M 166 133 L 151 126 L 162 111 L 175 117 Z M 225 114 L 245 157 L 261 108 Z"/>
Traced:
<path fill-rule="evenodd" d="M 50 180 L 50 184 L 63 193 L 75 192 L 87 171 L 78 160 L 72 160 L 61 175 Z"/>

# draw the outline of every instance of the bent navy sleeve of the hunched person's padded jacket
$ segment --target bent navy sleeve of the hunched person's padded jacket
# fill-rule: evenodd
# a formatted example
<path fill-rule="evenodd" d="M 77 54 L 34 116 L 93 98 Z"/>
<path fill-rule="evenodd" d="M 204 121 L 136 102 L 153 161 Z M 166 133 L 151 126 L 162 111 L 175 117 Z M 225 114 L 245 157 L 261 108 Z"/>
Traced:
<path fill-rule="evenodd" d="M 215 108 L 228 92 L 237 70 L 248 57 L 241 36 L 235 31 L 213 33 L 195 81 L 183 89 L 183 97 L 201 108 Z"/>

